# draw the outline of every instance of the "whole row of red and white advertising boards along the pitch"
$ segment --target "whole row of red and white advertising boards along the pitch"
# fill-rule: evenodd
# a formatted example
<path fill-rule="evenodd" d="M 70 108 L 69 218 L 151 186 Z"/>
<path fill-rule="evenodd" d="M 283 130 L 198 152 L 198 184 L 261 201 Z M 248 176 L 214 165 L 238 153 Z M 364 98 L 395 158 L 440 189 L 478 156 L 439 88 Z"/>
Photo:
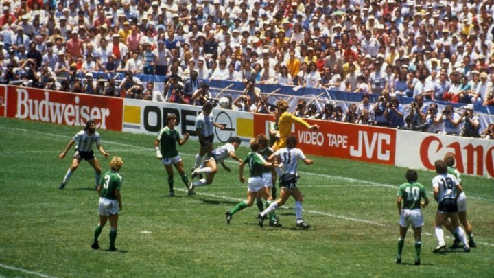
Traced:
<path fill-rule="evenodd" d="M 197 139 L 194 119 L 200 107 L 149 102 L 78 93 L 62 93 L 18 86 L 0 88 L 0 116 L 28 119 L 68 126 L 83 126 L 95 119 L 97 128 L 156 135 L 165 126 L 168 113 L 178 116 L 178 130 Z M 217 141 L 239 136 L 245 146 L 255 135 L 268 133 L 272 115 L 239 111 L 213 110 L 217 123 L 225 130 L 215 130 Z M 494 177 L 492 140 L 471 139 L 412 132 L 376 126 L 360 126 L 334 121 L 308 120 L 320 129 L 309 131 L 294 126 L 298 147 L 307 154 L 338 157 L 385 165 L 433 170 L 434 161 L 451 152 L 457 168 L 464 174 Z"/>

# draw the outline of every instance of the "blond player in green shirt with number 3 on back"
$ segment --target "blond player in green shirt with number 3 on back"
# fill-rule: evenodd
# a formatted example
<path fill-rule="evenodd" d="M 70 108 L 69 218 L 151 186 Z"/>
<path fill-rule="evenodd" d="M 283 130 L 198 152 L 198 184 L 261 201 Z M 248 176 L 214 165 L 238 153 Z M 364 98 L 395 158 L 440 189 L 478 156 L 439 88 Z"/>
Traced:
<path fill-rule="evenodd" d="M 124 206 L 121 202 L 120 187 L 122 184 L 122 176 L 119 171 L 124 161 L 120 157 L 113 157 L 110 161 L 110 171 L 103 175 L 97 187 L 99 195 L 99 223 L 95 228 L 94 241 L 91 248 L 99 249 L 98 238 L 103 231 L 103 227 L 110 220 L 110 248 L 109 251 L 117 251 L 115 248 L 115 240 L 117 239 L 118 228 L 118 212 Z"/>

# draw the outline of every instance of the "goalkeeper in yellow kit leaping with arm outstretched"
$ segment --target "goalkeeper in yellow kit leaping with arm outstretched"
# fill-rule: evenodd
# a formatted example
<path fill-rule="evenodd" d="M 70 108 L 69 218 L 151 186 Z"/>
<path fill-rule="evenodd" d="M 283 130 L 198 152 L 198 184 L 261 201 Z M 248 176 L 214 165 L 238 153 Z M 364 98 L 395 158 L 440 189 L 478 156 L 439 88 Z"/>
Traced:
<path fill-rule="evenodd" d="M 319 128 L 318 125 L 311 126 L 288 111 L 288 102 L 286 100 L 278 100 L 277 102 L 277 113 L 274 116 L 275 121 L 278 125 L 278 134 L 276 135 L 277 141 L 272 146 L 272 149 L 279 150 L 281 148 L 285 148 L 287 145 L 287 137 L 292 134 L 292 124 L 297 123 L 309 128 L 309 130 L 316 130 Z"/>

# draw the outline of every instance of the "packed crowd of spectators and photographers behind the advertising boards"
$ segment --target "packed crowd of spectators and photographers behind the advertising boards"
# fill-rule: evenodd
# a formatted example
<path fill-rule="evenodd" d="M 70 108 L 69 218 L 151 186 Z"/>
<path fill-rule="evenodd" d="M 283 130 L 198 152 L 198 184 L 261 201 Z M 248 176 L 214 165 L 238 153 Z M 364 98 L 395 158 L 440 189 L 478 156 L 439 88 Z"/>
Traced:
<path fill-rule="evenodd" d="M 272 107 L 256 84 L 281 84 L 362 93 L 347 111 L 301 103 L 301 117 L 471 137 L 491 130 L 479 132 L 474 111 L 494 106 L 493 1 L 0 3 L 8 84 L 202 105 L 208 80 L 230 80 L 246 84 L 231 106 L 258 113 Z M 137 74 L 166 76 L 164 90 Z M 415 102 L 403 107 L 397 96 Z M 464 108 L 439 112 L 423 100 Z"/>

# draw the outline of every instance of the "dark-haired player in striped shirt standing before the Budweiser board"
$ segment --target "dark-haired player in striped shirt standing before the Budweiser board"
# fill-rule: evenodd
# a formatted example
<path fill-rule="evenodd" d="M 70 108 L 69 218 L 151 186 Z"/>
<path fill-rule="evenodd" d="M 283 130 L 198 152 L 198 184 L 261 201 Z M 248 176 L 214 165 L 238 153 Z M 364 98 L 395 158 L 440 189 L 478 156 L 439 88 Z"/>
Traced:
<path fill-rule="evenodd" d="M 71 178 L 73 172 L 79 167 L 80 161 L 84 159 L 93 167 L 95 170 L 95 189 L 99 185 L 99 177 L 101 176 L 101 166 L 99 166 L 99 161 L 95 157 L 93 152 L 93 146 L 96 143 L 97 149 L 104 157 L 110 157 L 110 154 L 105 152 L 103 149 L 100 139 L 99 133 L 96 132 L 96 123 L 92 119 L 86 122 L 86 126 L 84 130 L 78 132 L 71 141 L 65 147 L 65 150 L 58 155 L 59 159 L 63 159 L 67 152 L 69 152 L 72 145 L 75 143 L 75 152 L 72 158 L 71 167 L 67 170 L 67 174 L 65 174 L 64 179 L 58 189 L 64 189 L 67 183 L 69 183 L 69 179 Z"/>

